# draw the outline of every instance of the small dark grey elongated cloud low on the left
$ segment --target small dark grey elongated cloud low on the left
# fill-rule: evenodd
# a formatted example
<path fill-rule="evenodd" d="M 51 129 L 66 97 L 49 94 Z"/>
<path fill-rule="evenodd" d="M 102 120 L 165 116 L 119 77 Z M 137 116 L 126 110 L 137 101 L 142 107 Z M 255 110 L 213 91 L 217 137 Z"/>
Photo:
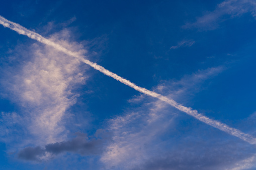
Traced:
<path fill-rule="evenodd" d="M 81 155 L 98 155 L 104 151 L 105 145 L 111 139 L 111 133 L 105 130 L 97 130 L 96 137 L 87 136 L 87 134 L 77 132 L 76 137 L 62 142 L 50 143 L 45 148 L 40 146 L 26 147 L 19 151 L 18 157 L 25 160 L 40 161 L 41 157 L 50 153 L 55 156 L 62 152 L 73 152 Z"/>

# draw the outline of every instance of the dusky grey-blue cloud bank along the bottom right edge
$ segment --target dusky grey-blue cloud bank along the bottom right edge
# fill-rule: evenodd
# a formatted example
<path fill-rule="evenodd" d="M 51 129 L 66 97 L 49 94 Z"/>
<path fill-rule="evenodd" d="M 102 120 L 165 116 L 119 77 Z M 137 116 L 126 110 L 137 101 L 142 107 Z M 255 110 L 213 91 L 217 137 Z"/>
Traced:
<path fill-rule="evenodd" d="M 200 146 L 201 144 L 201 146 Z M 188 148 L 189 147 L 189 148 Z M 238 148 L 237 148 L 238 147 Z M 247 151 L 249 147 L 247 147 Z M 175 150 L 152 157 L 137 169 L 248 169 L 252 167 L 254 156 L 249 156 L 239 149 L 243 147 L 236 143 L 220 142 L 210 145 L 202 142 L 187 143 L 185 146 L 177 146 Z M 243 158 L 246 157 L 245 160 Z M 239 167 L 234 164 L 239 161 Z M 247 161 L 247 162 L 246 162 Z M 242 164 L 242 162 L 244 164 Z M 134 168 L 135 169 L 135 168 Z"/>

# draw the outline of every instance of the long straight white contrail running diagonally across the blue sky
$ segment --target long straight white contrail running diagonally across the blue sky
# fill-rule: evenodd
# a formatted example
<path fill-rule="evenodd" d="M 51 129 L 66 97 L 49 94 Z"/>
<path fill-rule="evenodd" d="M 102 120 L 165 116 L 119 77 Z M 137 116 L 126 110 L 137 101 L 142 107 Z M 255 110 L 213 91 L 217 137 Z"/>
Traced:
<path fill-rule="evenodd" d="M 226 125 L 224 123 L 221 123 L 217 120 L 210 119 L 210 118 L 198 113 L 197 110 L 193 110 L 191 107 L 183 106 L 183 105 L 177 103 L 176 101 L 174 101 L 173 99 L 169 99 L 169 98 L 167 98 L 165 96 L 162 96 L 158 93 L 152 92 L 152 91 L 147 90 L 147 89 L 142 88 L 142 87 L 139 87 L 139 86 L 135 85 L 134 83 L 130 82 L 129 80 L 126 80 L 126 79 L 118 76 L 117 74 L 112 73 L 111 71 L 105 69 L 104 67 L 98 65 L 97 63 L 93 63 L 93 62 L 91 62 L 87 59 L 84 59 L 83 56 L 80 56 L 78 53 L 67 50 L 66 48 L 62 47 L 61 45 L 56 44 L 56 43 L 42 37 L 41 35 L 33 32 L 33 31 L 30 31 L 30 30 L 26 29 L 25 27 L 22 27 L 21 25 L 19 25 L 17 23 L 13 23 L 13 22 L 5 19 L 2 16 L 0 16 L 0 24 L 2 24 L 4 27 L 10 28 L 10 29 L 16 31 L 17 33 L 19 33 L 21 35 L 28 36 L 29 38 L 34 39 L 34 40 L 36 40 L 40 43 L 52 46 L 53 48 L 65 53 L 69 56 L 73 56 L 75 58 L 78 58 L 83 63 L 86 63 L 86 64 L 90 65 L 91 67 L 93 67 L 96 70 L 99 70 L 103 74 L 105 74 L 109 77 L 112 77 L 112 78 L 116 79 L 117 81 L 120 81 L 121 83 L 124 83 L 127 86 L 130 86 L 131 88 L 133 88 L 133 89 L 135 89 L 135 90 L 137 90 L 137 91 L 139 91 L 143 94 L 146 94 L 148 96 L 152 96 L 152 97 L 155 97 L 157 99 L 160 99 L 160 100 L 172 105 L 173 107 L 175 107 L 175 108 L 177 108 L 177 109 L 195 117 L 196 119 L 198 119 L 198 120 L 200 120 L 200 121 L 202 121 L 202 122 L 204 122 L 204 123 L 206 123 L 210 126 L 218 128 L 219 130 L 222 130 L 222 131 L 224 131 L 228 134 L 231 134 L 233 136 L 239 137 L 240 139 L 242 139 L 242 140 L 244 140 L 244 141 L 246 141 L 250 144 L 256 144 L 256 138 L 254 138 L 250 134 L 243 133 L 240 130 L 238 130 L 236 128 L 233 128 L 233 127 L 229 127 L 228 125 Z"/>

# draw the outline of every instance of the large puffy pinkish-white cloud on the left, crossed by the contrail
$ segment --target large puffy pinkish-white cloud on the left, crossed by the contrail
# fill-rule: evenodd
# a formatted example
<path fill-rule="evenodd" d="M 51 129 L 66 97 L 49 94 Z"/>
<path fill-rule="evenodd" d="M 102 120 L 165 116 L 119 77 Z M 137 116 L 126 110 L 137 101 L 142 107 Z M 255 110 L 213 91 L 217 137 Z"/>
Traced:
<path fill-rule="evenodd" d="M 86 54 L 84 44 L 70 42 L 70 37 L 70 31 L 64 29 L 52 34 L 50 39 L 67 49 Z M 1 85 L 9 92 L 7 97 L 22 107 L 17 115 L 19 125 L 23 127 L 23 132 L 19 133 L 24 139 L 23 145 L 34 142 L 44 145 L 65 140 L 68 131 L 63 118 L 69 116 L 66 110 L 76 102 L 78 96 L 71 91 L 86 82 L 88 67 L 80 69 L 78 59 L 37 43 L 18 45 L 9 55 L 16 58 L 16 63 L 3 69 Z M 30 135 L 33 137 L 26 139 Z M 12 135 L 9 137 L 12 138 Z M 8 134 L 5 138 L 8 138 Z M 4 140 L 3 135 L 1 139 Z"/>

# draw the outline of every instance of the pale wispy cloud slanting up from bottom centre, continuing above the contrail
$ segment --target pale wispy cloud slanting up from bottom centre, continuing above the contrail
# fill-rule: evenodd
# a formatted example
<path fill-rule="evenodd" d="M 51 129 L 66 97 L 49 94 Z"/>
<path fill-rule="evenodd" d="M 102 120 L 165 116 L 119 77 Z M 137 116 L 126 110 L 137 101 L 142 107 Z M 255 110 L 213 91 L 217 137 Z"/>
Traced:
<path fill-rule="evenodd" d="M 184 76 L 181 80 L 164 82 L 154 89 L 164 94 L 175 91 L 187 93 L 189 88 L 194 90 L 194 86 L 200 86 L 206 79 L 216 76 L 222 70 L 222 67 L 199 70 L 192 75 Z M 169 154 L 165 152 L 173 148 L 174 144 L 170 139 L 172 137 L 166 137 L 170 136 L 168 134 L 170 131 L 174 132 L 172 135 L 179 140 L 180 132 L 174 129 L 179 128 L 177 124 L 181 121 L 179 117 L 182 115 L 177 110 L 160 100 L 148 99 L 145 95 L 133 96 L 128 102 L 138 104 L 139 107 L 128 109 L 123 116 L 109 121 L 108 130 L 113 131 L 113 143 L 110 143 L 101 157 L 101 161 L 106 164 L 107 168 L 139 169 L 140 166 L 144 166 L 143 163 L 157 159 L 162 156 L 161 154 Z M 190 128 L 200 129 L 195 126 Z M 205 127 L 201 128 L 205 129 Z M 166 159 L 165 163 L 169 161 Z M 177 160 L 173 161 L 179 164 Z M 153 169 L 159 169 L 161 165 L 153 167 Z"/>

